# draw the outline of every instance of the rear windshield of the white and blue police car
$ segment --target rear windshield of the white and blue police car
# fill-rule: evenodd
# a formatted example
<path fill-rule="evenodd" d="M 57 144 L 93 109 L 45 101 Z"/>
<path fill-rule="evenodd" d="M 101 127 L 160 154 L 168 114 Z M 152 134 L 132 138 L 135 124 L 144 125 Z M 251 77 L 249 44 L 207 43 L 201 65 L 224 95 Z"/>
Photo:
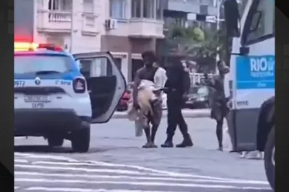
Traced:
<path fill-rule="evenodd" d="M 14 56 L 14 74 L 65 73 L 72 70 L 72 59 L 67 56 L 18 55 Z"/>

